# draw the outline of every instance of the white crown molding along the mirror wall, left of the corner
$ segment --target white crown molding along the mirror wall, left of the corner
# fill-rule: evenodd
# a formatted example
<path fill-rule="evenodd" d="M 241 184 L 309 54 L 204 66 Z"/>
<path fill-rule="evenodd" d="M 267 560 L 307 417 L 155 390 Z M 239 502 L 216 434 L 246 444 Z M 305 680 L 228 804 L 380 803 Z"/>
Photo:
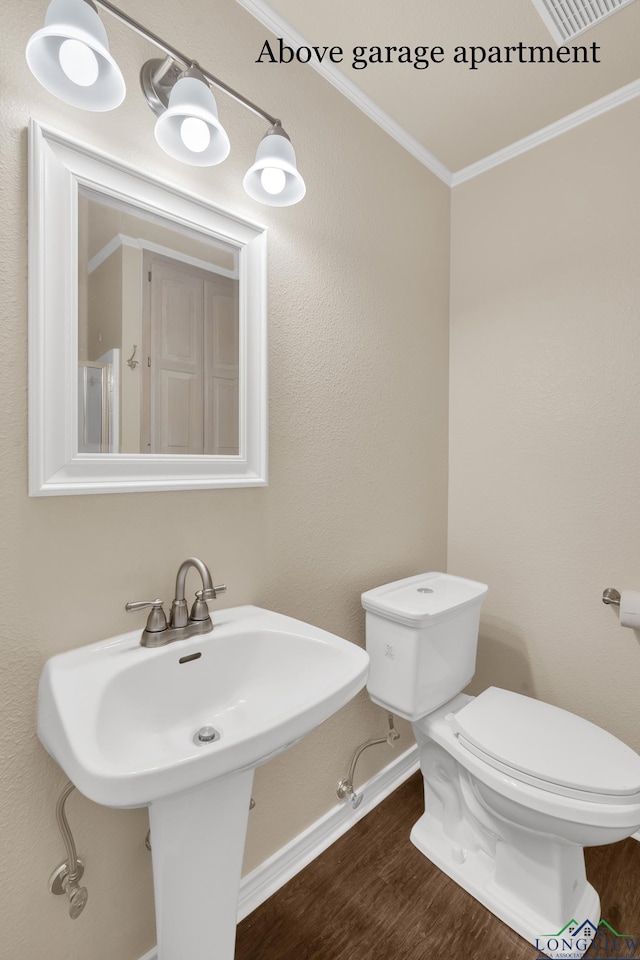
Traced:
<path fill-rule="evenodd" d="M 282 37 L 289 46 L 294 49 L 309 46 L 308 41 L 305 40 L 290 23 L 283 20 L 275 10 L 272 10 L 265 0 L 237 0 L 237 2 L 240 6 L 244 7 L 248 13 L 255 17 L 256 20 L 259 20 L 263 26 L 270 30 L 274 36 Z M 449 168 L 445 167 L 444 163 L 441 163 L 437 157 L 434 157 L 426 147 L 418 143 L 410 133 L 407 133 L 404 127 L 396 123 L 388 113 L 385 113 L 377 103 L 368 97 L 366 93 L 363 93 L 352 80 L 349 80 L 349 78 L 341 73 L 340 70 L 336 69 L 333 64 L 318 63 L 317 61 L 314 62 L 311 60 L 309 66 L 339 90 L 347 100 L 351 100 L 359 110 L 373 120 L 374 123 L 377 123 L 379 127 L 388 133 L 390 137 L 393 137 L 393 139 L 399 143 L 401 147 L 404 147 L 408 153 L 414 156 L 416 160 L 419 160 L 431 173 L 439 177 L 448 187 L 451 186 L 452 173 Z"/>

